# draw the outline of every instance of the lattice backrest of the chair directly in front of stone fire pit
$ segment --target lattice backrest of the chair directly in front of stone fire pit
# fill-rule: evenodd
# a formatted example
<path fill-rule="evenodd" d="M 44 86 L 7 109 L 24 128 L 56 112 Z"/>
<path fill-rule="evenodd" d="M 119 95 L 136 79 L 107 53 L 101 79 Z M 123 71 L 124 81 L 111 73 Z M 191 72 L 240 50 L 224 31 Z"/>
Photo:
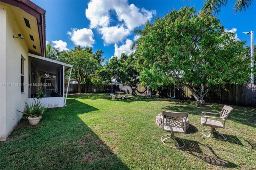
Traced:
<path fill-rule="evenodd" d="M 173 128 L 183 128 L 184 133 L 186 133 L 186 122 L 188 113 L 162 111 L 162 116 L 163 130 L 165 123 L 166 125 L 171 126 Z"/>

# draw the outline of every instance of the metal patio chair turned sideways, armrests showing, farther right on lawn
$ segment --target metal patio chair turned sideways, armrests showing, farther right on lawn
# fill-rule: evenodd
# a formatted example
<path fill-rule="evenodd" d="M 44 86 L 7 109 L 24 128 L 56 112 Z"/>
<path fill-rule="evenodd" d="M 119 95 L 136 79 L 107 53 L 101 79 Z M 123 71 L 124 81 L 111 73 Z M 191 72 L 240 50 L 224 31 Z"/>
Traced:
<path fill-rule="evenodd" d="M 217 138 L 211 138 L 214 140 L 226 140 L 227 137 L 224 136 L 223 134 L 220 134 L 220 132 L 218 132 L 216 129 L 217 128 L 222 128 L 225 129 L 225 122 L 226 122 L 226 118 L 228 117 L 228 115 L 230 114 L 231 110 L 233 108 L 230 106 L 224 106 L 222 108 L 221 112 L 218 113 L 212 113 L 212 112 L 202 112 L 202 114 L 204 114 L 204 116 L 201 118 L 201 124 L 202 126 L 210 126 L 211 129 L 210 130 L 202 130 L 202 134 L 203 136 L 206 136 L 208 138 L 211 138 L 211 134 L 213 134 L 213 132 L 219 134 L 220 136 L 222 136 L 222 139 L 217 139 Z M 219 117 L 211 117 L 211 116 L 206 116 L 206 114 L 220 114 Z M 217 120 L 212 120 L 212 119 L 217 119 Z M 223 124 L 222 124 L 222 120 Z M 210 131 L 208 135 L 205 135 L 204 132 L 206 131 Z"/>

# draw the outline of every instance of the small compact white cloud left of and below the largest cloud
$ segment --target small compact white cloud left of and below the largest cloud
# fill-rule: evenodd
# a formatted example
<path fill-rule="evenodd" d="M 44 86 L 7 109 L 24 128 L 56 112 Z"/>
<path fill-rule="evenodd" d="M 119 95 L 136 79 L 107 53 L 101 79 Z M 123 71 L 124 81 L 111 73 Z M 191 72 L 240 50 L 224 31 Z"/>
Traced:
<path fill-rule="evenodd" d="M 68 32 L 70 39 L 75 45 L 92 47 L 95 40 L 93 39 L 93 32 L 90 29 L 76 29 L 71 28 L 71 32 Z"/>

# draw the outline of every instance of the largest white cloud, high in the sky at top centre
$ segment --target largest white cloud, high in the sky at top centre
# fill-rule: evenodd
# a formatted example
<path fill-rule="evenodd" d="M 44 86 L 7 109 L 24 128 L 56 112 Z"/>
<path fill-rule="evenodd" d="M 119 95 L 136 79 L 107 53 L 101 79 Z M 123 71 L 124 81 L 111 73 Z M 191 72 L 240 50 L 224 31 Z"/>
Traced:
<path fill-rule="evenodd" d="M 118 19 L 115 26 L 110 26 L 112 21 L 110 12 L 111 14 L 114 12 Z M 90 20 L 90 28 L 100 30 L 104 43 L 111 44 L 123 40 L 134 28 L 151 20 L 153 15 L 156 15 L 156 11 L 137 8 L 134 4 L 129 5 L 128 0 L 91 0 L 85 14 Z M 120 33 L 121 29 L 124 30 L 123 34 Z M 115 40 L 108 38 L 116 35 L 119 37 Z"/>

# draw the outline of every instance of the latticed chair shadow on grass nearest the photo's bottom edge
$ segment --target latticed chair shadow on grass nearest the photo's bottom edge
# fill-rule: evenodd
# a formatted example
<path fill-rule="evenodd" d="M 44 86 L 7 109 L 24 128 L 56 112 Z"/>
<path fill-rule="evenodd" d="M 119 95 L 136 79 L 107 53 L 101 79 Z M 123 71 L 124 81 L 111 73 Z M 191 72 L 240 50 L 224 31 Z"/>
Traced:
<path fill-rule="evenodd" d="M 185 147 L 183 148 L 184 152 L 191 154 L 208 164 L 212 164 L 220 167 L 226 167 L 226 168 L 238 167 L 238 165 L 220 158 L 210 146 L 204 145 L 200 142 L 196 142 L 193 140 L 185 139 L 184 142 L 186 144 Z M 204 153 L 200 148 L 200 146 L 204 148 L 204 150 L 206 150 L 205 152 L 207 153 Z"/>

